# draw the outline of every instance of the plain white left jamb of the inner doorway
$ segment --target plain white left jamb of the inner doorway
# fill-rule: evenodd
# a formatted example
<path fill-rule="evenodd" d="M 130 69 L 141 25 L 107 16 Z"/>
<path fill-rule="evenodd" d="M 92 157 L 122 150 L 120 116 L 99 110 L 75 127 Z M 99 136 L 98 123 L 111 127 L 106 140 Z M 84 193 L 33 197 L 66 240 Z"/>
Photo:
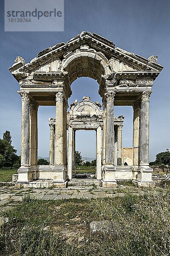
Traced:
<path fill-rule="evenodd" d="M 72 179 L 73 128 L 68 126 L 68 179 Z"/>

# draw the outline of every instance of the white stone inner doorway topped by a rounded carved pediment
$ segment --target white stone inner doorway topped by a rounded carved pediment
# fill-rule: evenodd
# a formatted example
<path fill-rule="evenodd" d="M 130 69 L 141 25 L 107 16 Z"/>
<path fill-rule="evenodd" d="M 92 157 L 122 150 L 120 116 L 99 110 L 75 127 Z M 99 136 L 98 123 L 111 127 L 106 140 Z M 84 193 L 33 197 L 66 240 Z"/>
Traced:
<path fill-rule="evenodd" d="M 71 180 L 75 170 L 76 131 L 96 131 L 96 179 L 102 180 L 102 125 L 103 116 L 99 102 L 91 102 L 84 96 L 82 101 L 71 103 L 67 112 L 68 128 L 68 180 Z"/>

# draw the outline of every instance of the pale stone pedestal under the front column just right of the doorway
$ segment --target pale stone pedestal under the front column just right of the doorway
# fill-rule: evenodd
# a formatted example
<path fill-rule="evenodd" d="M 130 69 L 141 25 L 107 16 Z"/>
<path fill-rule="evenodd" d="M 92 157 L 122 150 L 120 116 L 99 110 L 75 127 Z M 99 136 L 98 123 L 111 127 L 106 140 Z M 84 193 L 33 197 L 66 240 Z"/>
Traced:
<path fill-rule="evenodd" d="M 103 187 L 116 187 L 117 183 L 115 180 L 116 168 L 113 165 L 102 166 L 102 186 Z"/>

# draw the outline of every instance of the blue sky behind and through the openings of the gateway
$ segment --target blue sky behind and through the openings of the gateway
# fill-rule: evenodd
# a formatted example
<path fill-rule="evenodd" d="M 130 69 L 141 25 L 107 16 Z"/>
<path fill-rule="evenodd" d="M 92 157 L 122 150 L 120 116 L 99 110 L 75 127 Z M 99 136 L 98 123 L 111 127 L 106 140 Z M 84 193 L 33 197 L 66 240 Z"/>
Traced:
<path fill-rule="evenodd" d="M 96 32 L 126 49 L 148 58 L 158 55 L 164 66 L 153 86 L 150 97 L 150 160 L 170 148 L 170 1 L 169 0 L 65 0 L 64 32 L 4 32 L 3 1 L 0 3 L 0 137 L 11 131 L 13 145 L 20 154 L 21 99 L 19 85 L 8 71 L 17 55 L 26 62 L 42 49 L 67 42 L 82 31 Z M 48 0 L 50 4 L 50 0 Z M 101 101 L 98 84 L 93 79 L 80 78 L 71 85 L 74 99 L 91 96 Z M 117 107 L 115 116 L 125 115 L 123 146 L 132 145 L 132 108 Z M 48 117 L 54 117 L 54 107 L 39 108 L 39 152 L 48 157 Z M 95 157 L 95 133 L 78 132 L 77 150 L 83 156 Z"/>

